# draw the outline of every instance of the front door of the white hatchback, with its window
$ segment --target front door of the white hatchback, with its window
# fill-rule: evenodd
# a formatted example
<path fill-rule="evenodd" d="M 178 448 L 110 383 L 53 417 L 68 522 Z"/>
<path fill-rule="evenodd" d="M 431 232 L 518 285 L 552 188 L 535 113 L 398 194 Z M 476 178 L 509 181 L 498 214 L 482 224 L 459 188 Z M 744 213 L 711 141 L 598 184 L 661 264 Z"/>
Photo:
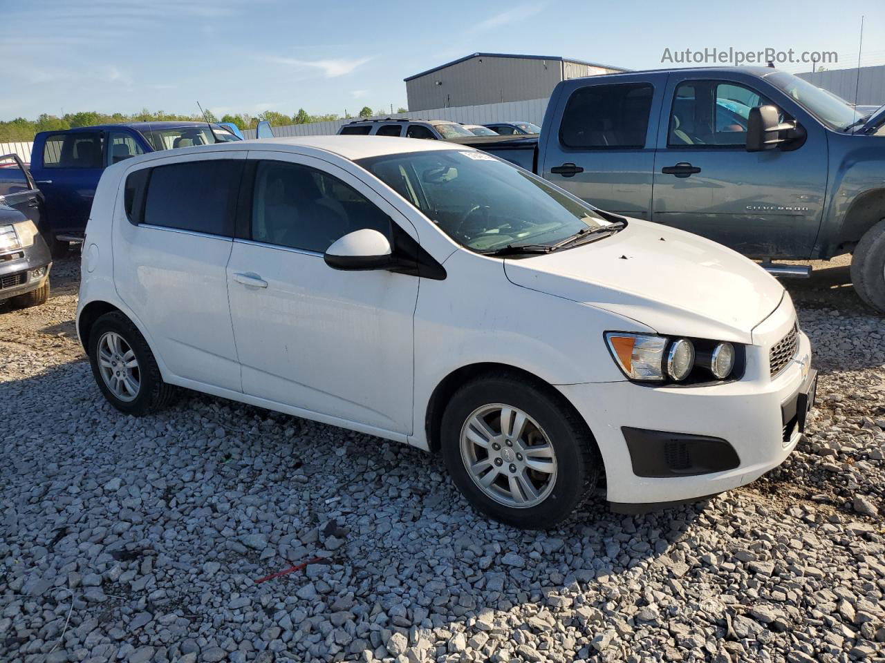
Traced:
<path fill-rule="evenodd" d="M 418 278 L 337 271 L 323 253 L 361 228 L 390 236 L 404 217 L 348 172 L 310 156 L 250 151 L 248 227 L 227 288 L 242 389 L 343 422 L 412 432 Z"/>

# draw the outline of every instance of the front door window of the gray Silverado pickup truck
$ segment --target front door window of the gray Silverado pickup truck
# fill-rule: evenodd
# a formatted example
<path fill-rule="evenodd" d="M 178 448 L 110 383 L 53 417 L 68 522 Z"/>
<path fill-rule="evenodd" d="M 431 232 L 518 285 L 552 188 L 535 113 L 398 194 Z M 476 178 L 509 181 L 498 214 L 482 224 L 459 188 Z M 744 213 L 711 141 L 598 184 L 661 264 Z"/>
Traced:
<path fill-rule="evenodd" d="M 673 96 L 667 145 L 743 147 L 750 109 L 766 103 L 770 103 L 766 97 L 735 83 L 681 83 Z"/>

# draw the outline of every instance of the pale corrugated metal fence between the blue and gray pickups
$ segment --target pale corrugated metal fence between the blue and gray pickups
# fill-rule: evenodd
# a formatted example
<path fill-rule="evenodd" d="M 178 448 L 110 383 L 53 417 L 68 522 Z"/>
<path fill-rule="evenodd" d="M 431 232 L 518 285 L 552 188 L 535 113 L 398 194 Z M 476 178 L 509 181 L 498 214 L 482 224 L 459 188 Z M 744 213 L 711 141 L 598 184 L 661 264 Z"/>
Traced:
<path fill-rule="evenodd" d="M 470 125 L 484 125 L 489 122 L 509 122 L 524 120 L 541 126 L 544 111 L 547 110 L 549 99 L 531 99 L 521 102 L 487 103 L 476 106 L 460 106 L 458 108 L 436 108 L 417 110 L 415 112 L 394 113 L 379 116 L 381 118 L 416 118 L 416 119 L 449 119 L 452 122 L 463 122 Z M 273 135 L 277 138 L 285 136 L 321 136 L 337 133 L 338 127 L 352 122 L 354 118 L 339 119 L 334 122 L 314 122 L 308 125 L 274 126 Z M 242 132 L 246 138 L 255 138 L 254 129 Z"/>

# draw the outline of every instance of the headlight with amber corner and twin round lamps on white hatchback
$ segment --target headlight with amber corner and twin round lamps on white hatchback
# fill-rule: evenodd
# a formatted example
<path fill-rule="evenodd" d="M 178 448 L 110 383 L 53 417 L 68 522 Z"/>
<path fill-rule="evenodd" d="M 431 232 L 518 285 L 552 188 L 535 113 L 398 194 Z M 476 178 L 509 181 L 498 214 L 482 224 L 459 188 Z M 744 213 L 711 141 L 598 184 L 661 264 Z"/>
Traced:
<path fill-rule="evenodd" d="M 689 380 L 696 384 L 711 377 L 725 380 L 741 372 L 737 369 L 743 347 L 739 352 L 731 343 L 625 331 L 606 331 L 605 342 L 620 370 L 637 382 Z"/>

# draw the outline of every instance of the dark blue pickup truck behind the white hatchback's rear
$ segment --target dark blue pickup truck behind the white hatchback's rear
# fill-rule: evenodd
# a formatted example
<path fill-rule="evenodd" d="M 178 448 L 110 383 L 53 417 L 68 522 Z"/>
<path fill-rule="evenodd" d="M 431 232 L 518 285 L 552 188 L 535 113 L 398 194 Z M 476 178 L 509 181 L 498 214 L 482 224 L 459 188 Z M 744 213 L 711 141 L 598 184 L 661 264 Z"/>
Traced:
<path fill-rule="evenodd" d="M 239 140 L 227 128 L 206 122 L 133 122 L 37 133 L 30 171 L 45 200 L 40 232 L 52 255 L 64 255 L 71 241 L 81 240 L 107 166 L 146 152 Z"/>

